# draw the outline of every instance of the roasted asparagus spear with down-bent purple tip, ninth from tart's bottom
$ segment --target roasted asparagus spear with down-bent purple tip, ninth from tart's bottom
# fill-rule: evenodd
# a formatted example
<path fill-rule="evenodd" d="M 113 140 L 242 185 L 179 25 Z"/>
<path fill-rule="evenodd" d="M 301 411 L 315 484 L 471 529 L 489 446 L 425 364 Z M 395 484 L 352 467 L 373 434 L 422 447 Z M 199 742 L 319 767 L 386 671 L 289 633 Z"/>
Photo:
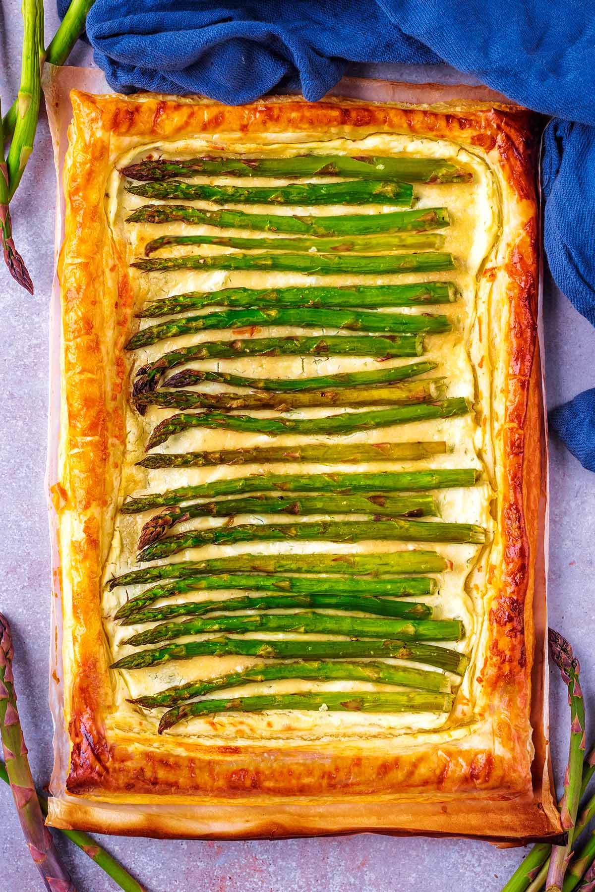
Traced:
<path fill-rule="evenodd" d="M 382 493 L 366 496 L 250 496 L 247 499 L 225 499 L 163 508 L 146 522 L 138 548 L 161 539 L 176 524 L 192 517 L 235 517 L 238 514 L 360 514 L 373 517 L 438 516 L 438 507 L 429 495 L 388 497 Z"/>

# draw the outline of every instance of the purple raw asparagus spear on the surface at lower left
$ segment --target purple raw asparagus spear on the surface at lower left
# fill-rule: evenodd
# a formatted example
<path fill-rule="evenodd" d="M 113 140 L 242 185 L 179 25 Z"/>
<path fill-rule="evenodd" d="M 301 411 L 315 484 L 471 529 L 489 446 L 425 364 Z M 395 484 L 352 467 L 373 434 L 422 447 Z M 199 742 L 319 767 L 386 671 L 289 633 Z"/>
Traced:
<path fill-rule="evenodd" d="M 27 8 L 25 7 L 25 12 Z M 76 892 L 72 880 L 54 847 L 54 838 L 45 827 L 37 792 L 31 776 L 27 747 L 17 712 L 12 678 L 11 630 L 0 614 L 0 737 L 4 747 L 5 770 L 29 852 L 48 892 Z"/>

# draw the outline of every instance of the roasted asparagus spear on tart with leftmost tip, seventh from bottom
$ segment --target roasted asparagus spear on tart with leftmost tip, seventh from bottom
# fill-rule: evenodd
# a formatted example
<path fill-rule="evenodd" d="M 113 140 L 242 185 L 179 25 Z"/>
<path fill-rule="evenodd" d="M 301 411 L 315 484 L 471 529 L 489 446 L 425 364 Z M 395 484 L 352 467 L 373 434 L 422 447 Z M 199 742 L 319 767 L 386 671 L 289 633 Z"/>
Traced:
<path fill-rule="evenodd" d="M 441 573 L 450 569 L 450 563 L 435 551 L 392 551 L 387 554 L 311 554 L 311 555 L 233 555 L 229 558 L 211 558 L 209 560 L 181 561 L 177 564 L 161 566 L 145 566 L 140 570 L 114 577 L 110 582 L 110 590 L 119 585 L 136 585 L 138 582 L 154 582 L 157 579 L 188 579 L 198 574 L 279 574 L 279 573 L 316 573 L 366 575 L 366 582 L 376 579 L 379 574 L 387 573 Z M 297 583 L 301 577 L 294 577 Z M 314 579 L 320 584 L 324 577 Z M 330 582 L 330 581 L 329 581 Z M 359 582 L 343 578 L 337 584 L 345 585 L 345 591 L 360 591 L 349 588 L 350 582 Z M 389 582 L 383 580 L 383 582 Z M 396 582 L 391 580 L 390 582 Z M 411 580 L 401 580 L 412 583 Z M 326 589 L 295 589 L 285 591 L 328 591 Z M 236 586 L 237 588 L 237 586 Z M 371 591 L 371 590 L 367 590 Z M 374 591 L 380 594 L 379 591 Z M 401 594 L 426 594 L 430 592 L 402 591 Z M 396 594 L 396 591 L 385 591 L 384 594 Z M 158 597 L 166 597 L 159 595 Z"/>

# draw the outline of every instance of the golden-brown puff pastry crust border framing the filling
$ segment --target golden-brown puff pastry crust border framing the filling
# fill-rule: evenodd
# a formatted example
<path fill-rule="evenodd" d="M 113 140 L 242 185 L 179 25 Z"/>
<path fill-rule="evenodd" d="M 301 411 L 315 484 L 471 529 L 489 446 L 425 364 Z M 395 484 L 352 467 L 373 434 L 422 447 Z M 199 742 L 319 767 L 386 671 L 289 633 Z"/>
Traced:
<path fill-rule="evenodd" d="M 58 798 L 50 801 L 50 822 L 159 836 L 374 829 L 524 839 L 558 832 L 541 732 L 535 731 L 533 739 L 535 759 L 531 744 L 532 723 L 533 729 L 541 727 L 541 693 L 532 697 L 532 669 L 544 475 L 531 118 L 518 111 L 452 107 L 437 112 L 293 98 L 231 108 L 153 95 L 74 93 L 72 104 L 66 235 L 59 268 L 63 407 L 57 490 L 70 771 L 66 791 L 54 791 Z M 493 433 L 499 479 L 487 569 L 492 599 L 482 664 L 469 670 L 475 672 L 481 718 L 476 734 L 458 737 L 455 732 L 439 746 L 412 739 L 394 751 L 390 736 L 207 746 L 188 737 L 115 733 L 112 724 L 106 728 L 115 701 L 101 580 L 126 448 L 129 382 L 123 355 L 134 321 L 128 259 L 104 212 L 114 145 L 121 153 L 140 142 L 201 134 L 237 134 L 241 145 L 243 138 L 275 133 L 318 139 L 372 133 L 448 139 L 481 153 L 497 171 L 512 221 L 500 239 L 503 260 L 481 274 L 483 281 L 497 283 L 507 319 L 500 340 L 492 345 L 497 372 L 493 387 L 501 409 Z M 542 598 L 541 585 L 537 595 Z M 540 638 L 538 654 L 542 647 Z M 537 670 L 543 671 L 541 659 Z M 125 816 L 115 817 L 111 803 Z M 214 818 L 215 803 L 219 814 L 228 815 L 227 824 Z M 138 806 L 127 812 L 131 804 Z M 155 805 L 165 809 L 161 816 Z M 195 815 L 191 820 L 190 814 Z"/>

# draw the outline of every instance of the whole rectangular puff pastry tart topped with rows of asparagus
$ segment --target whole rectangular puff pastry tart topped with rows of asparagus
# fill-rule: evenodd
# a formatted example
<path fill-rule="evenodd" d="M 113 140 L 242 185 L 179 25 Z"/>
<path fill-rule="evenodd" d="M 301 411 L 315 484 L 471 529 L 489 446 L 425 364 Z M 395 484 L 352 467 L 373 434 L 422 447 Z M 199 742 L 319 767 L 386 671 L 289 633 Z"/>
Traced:
<path fill-rule="evenodd" d="M 72 104 L 50 822 L 557 833 L 532 121 Z"/>

